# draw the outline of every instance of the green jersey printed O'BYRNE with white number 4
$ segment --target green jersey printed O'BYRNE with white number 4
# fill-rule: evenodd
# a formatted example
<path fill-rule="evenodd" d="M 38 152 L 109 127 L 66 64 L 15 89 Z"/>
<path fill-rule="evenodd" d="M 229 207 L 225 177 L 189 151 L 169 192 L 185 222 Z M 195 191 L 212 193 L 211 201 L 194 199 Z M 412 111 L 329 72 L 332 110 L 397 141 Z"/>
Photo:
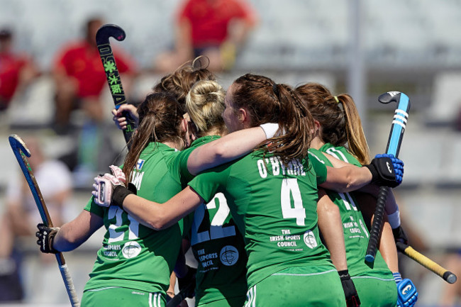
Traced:
<path fill-rule="evenodd" d="M 244 236 L 250 287 L 287 267 L 333 267 L 317 225 L 317 184 L 325 180 L 325 164 L 315 155 L 285 166 L 253 152 L 199 174 L 189 186 L 207 203 L 218 193 L 226 197 Z"/>

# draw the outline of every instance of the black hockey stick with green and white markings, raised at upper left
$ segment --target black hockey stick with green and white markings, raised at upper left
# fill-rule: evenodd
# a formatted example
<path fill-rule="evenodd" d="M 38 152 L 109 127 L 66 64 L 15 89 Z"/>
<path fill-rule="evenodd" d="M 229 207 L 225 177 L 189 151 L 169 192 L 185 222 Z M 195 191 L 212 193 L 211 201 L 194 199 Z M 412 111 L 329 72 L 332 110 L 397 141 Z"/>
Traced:
<path fill-rule="evenodd" d="M 125 31 L 116 25 L 104 25 L 99 28 L 96 32 L 96 45 L 98 46 L 99 56 L 101 57 L 104 72 L 106 72 L 107 83 L 111 91 L 113 104 L 116 109 L 126 104 L 125 92 L 123 91 L 120 74 L 118 73 L 115 57 L 113 57 L 111 44 L 109 38 L 115 38 L 118 41 L 124 40 L 126 35 Z M 130 147 L 130 139 L 133 134 L 134 121 L 130 118 L 128 112 L 123 112 L 123 116 L 126 118 L 126 129 L 123 131 L 123 137 L 125 138 L 128 148 Z"/>

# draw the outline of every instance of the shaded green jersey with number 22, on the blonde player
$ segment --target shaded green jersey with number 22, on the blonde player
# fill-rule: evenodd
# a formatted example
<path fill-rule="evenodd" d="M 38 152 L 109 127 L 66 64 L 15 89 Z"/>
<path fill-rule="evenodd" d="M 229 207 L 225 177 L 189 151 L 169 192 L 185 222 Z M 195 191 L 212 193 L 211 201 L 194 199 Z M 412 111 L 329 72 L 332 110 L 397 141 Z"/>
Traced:
<path fill-rule="evenodd" d="M 216 135 L 199 138 L 174 158 L 182 177 L 193 178 L 187 171 L 187 160 L 192 150 L 217 138 Z M 222 193 L 196 208 L 190 240 L 191 250 L 198 262 L 196 305 L 234 296 L 243 296 L 244 299 L 247 291 L 245 244 Z"/>

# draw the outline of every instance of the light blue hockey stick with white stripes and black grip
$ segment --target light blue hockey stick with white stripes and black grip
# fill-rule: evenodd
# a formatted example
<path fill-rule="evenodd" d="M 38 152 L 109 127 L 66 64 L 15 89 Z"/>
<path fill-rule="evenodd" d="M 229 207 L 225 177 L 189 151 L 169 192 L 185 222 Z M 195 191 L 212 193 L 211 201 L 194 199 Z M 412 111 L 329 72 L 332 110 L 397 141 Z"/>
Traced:
<path fill-rule="evenodd" d="M 406 96 L 406 94 L 401 93 L 400 91 L 388 91 L 387 93 L 380 95 L 378 97 L 378 101 L 382 104 L 389 104 L 391 101 L 395 101 L 397 103 L 386 149 L 386 153 L 388 155 L 394 155 L 394 157 L 397 157 L 399 155 L 401 141 L 404 138 L 406 122 L 409 118 L 409 96 Z M 384 223 L 384 207 L 386 205 L 388 192 L 389 188 L 387 186 L 381 186 L 379 188 L 376 209 L 374 211 L 374 219 L 370 230 L 370 240 L 368 241 L 367 254 L 365 255 L 365 260 L 367 262 L 374 262 L 379 235 L 381 234 L 382 225 Z"/>

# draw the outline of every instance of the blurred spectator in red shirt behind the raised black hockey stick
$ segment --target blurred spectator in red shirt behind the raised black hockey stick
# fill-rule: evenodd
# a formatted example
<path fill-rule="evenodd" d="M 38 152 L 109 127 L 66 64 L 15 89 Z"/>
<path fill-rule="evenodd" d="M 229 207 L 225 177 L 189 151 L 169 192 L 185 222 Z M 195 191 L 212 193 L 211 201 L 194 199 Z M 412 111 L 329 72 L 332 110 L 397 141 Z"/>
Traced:
<path fill-rule="evenodd" d="M 56 85 L 55 128 L 67 128 L 70 113 L 82 108 L 95 122 L 104 118 L 101 92 L 107 86 L 106 74 L 96 46 L 96 32 L 103 25 L 101 18 L 87 21 L 86 38 L 68 43 L 58 54 L 53 69 Z M 118 48 L 113 48 L 118 72 L 127 92 L 135 76 L 135 62 Z"/>

